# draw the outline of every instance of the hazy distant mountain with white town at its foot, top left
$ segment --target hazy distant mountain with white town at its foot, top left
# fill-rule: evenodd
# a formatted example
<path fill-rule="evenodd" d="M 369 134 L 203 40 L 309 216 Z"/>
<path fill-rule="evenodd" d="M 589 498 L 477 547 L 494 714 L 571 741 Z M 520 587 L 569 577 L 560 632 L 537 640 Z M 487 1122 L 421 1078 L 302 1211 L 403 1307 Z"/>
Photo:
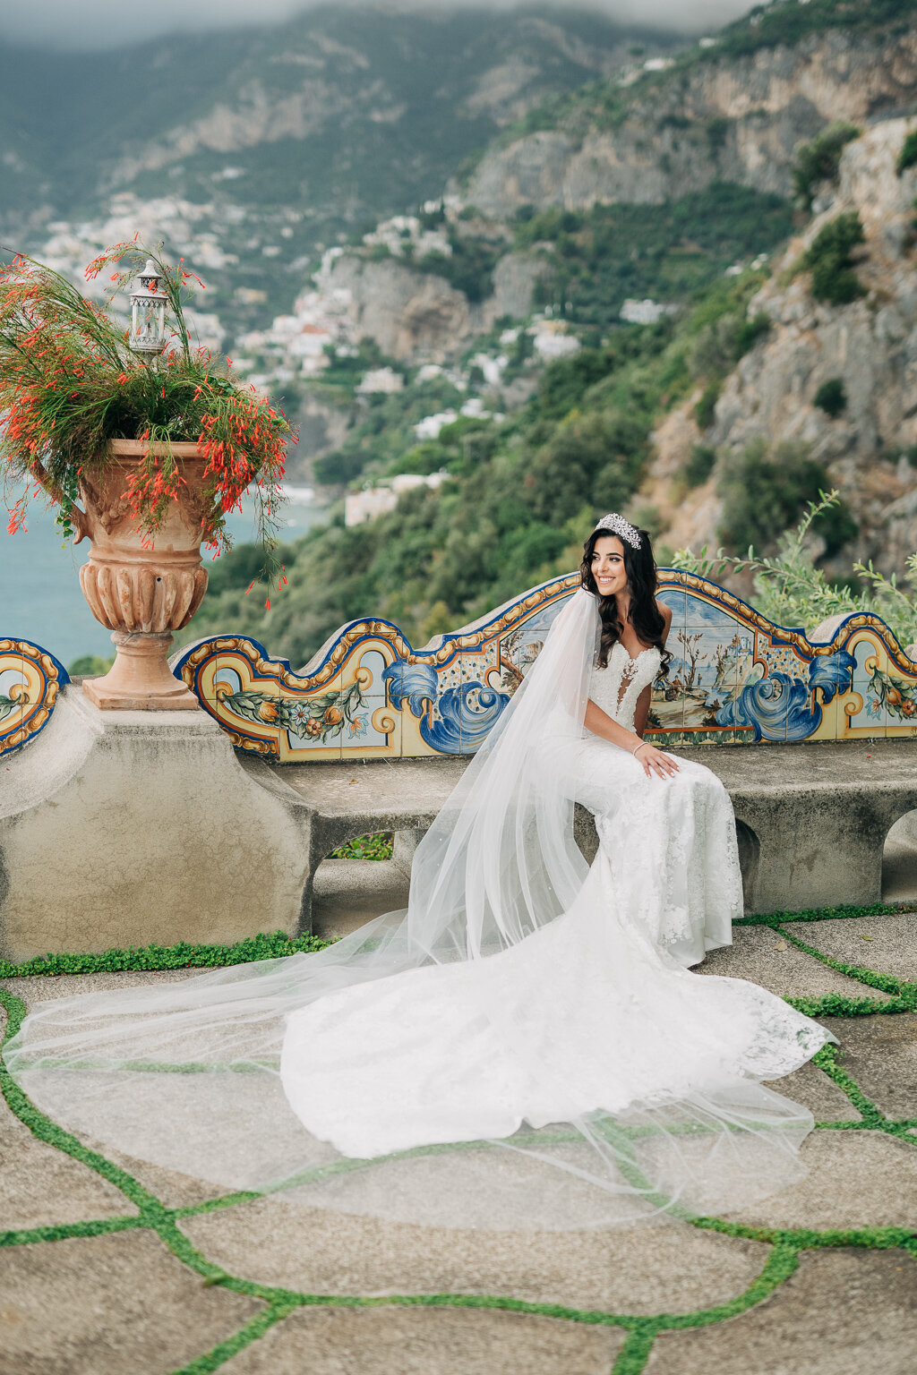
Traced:
<path fill-rule="evenodd" d="M 76 265 L 100 227 L 139 221 L 220 272 L 232 333 L 257 319 L 238 287 L 289 305 L 322 246 L 437 194 L 503 125 L 638 41 L 675 40 L 576 11 L 326 6 L 102 55 L 7 48 L 3 242 L 34 250 L 58 221 Z"/>

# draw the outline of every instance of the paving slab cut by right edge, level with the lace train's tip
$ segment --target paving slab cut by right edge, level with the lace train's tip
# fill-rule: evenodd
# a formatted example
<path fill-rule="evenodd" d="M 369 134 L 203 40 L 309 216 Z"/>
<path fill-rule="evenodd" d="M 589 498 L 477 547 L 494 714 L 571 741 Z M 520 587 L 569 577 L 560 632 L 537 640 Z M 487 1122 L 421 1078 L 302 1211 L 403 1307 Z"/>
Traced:
<path fill-rule="evenodd" d="M 917 1015 L 819 1018 L 840 1041 L 840 1068 L 891 1118 L 917 1118 Z"/>

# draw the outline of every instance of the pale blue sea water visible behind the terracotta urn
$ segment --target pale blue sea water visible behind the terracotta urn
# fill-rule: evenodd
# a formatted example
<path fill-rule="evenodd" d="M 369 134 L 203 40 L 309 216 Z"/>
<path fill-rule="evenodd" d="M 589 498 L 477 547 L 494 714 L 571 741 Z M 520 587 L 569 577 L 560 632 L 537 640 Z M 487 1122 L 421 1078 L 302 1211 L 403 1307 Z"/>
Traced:
<path fill-rule="evenodd" d="M 287 503 L 280 512 L 279 536 L 283 542 L 298 539 L 324 518 L 308 487 L 287 490 Z M 5 512 L 0 507 L 0 517 Z M 227 520 L 236 544 L 254 539 L 252 502 L 241 514 Z M 82 654 L 110 659 L 114 653 L 111 632 L 92 616 L 80 591 L 80 566 L 89 557 L 89 542 L 66 543 L 54 514 L 34 500 L 26 528 L 8 535 L 5 520 L 0 524 L 0 639 L 27 639 L 51 650 L 60 663 L 70 664 Z M 205 553 L 205 566 L 209 556 Z"/>

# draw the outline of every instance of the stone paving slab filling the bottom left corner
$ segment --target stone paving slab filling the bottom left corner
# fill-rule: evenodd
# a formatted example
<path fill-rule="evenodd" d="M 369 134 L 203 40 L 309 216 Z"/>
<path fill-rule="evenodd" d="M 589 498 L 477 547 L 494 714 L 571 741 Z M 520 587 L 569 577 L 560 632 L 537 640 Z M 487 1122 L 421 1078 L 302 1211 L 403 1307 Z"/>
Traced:
<path fill-rule="evenodd" d="M 150 1232 L 0 1250 L 3 1375 L 168 1375 L 261 1310 Z"/>

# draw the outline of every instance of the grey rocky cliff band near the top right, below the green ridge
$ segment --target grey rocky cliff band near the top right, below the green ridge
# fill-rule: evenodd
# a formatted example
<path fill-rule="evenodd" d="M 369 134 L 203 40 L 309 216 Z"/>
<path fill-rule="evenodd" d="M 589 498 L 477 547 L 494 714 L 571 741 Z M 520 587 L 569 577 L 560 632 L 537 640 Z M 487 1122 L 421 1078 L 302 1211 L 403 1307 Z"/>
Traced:
<path fill-rule="evenodd" d="M 832 120 L 866 124 L 912 107 L 917 30 L 835 29 L 606 92 L 605 107 L 584 96 L 557 128 L 488 153 L 462 188 L 467 204 L 506 219 L 522 205 L 659 204 L 714 180 L 789 195 L 800 139 Z"/>

